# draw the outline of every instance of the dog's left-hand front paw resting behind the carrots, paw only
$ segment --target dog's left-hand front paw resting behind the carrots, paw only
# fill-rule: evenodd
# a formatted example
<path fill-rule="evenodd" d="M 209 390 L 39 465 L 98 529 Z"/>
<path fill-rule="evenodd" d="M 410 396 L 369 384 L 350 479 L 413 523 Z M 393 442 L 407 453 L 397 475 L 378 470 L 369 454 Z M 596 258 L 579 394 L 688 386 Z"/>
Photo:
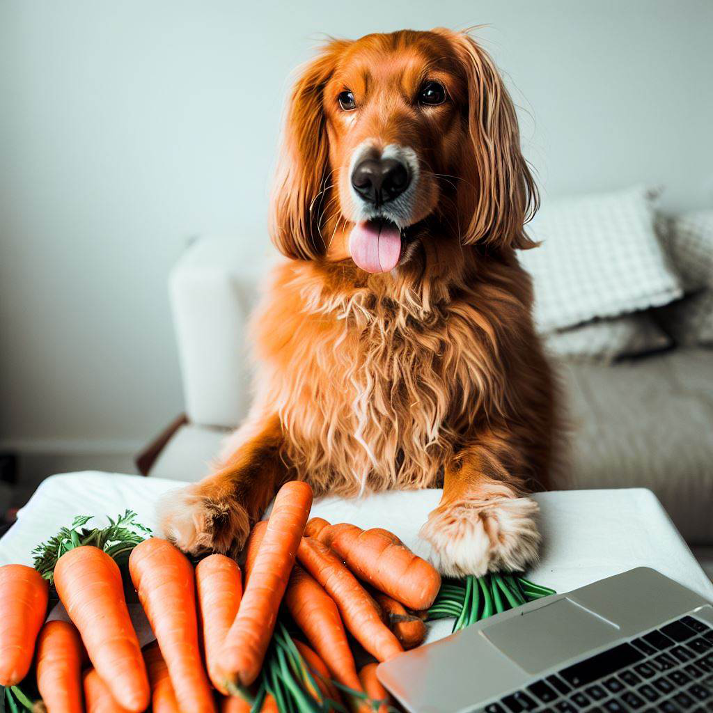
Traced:
<path fill-rule="evenodd" d="M 232 497 L 207 495 L 200 484 L 170 491 L 157 506 L 163 534 L 183 552 L 237 554 L 250 533 L 245 508 Z"/>

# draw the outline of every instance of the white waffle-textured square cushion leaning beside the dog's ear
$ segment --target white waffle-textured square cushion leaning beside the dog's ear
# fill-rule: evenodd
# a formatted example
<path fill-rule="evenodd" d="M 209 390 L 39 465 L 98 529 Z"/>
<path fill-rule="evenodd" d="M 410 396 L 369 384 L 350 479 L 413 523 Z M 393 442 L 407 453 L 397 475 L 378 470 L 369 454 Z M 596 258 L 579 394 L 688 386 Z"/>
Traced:
<path fill-rule="evenodd" d="M 535 318 L 543 332 L 682 295 L 655 235 L 645 188 L 545 204 L 528 232 L 543 241 L 520 252 L 533 276 Z"/>

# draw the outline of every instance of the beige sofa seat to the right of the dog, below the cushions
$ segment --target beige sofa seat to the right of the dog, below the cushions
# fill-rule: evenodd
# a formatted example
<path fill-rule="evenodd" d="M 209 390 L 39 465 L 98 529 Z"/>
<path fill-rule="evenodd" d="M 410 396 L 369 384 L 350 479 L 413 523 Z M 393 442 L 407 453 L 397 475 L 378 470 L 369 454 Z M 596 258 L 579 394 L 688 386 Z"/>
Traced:
<path fill-rule="evenodd" d="M 713 543 L 713 352 L 563 367 L 573 488 L 645 486 L 689 543 Z"/>

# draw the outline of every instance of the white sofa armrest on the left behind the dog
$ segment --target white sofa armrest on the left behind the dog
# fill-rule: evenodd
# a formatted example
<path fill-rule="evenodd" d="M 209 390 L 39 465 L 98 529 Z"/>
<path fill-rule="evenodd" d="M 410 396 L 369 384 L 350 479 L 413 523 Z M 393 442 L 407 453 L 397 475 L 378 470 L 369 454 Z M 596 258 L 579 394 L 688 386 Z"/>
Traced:
<path fill-rule="evenodd" d="M 264 254 L 255 244 L 265 246 Z M 235 236 L 200 238 L 171 271 L 185 410 L 195 424 L 237 426 L 247 413 L 245 327 L 269 269 L 264 237 Z"/>

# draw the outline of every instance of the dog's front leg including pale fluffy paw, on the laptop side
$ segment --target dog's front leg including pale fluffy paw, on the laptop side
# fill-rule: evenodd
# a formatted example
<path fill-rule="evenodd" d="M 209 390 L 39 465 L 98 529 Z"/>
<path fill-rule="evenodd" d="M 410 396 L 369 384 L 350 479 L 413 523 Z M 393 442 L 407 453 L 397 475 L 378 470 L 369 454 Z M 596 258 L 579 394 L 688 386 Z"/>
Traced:
<path fill-rule="evenodd" d="M 525 496 L 523 453 L 487 431 L 448 463 L 443 497 L 421 528 L 444 575 L 523 570 L 538 557 L 538 505 Z"/>

